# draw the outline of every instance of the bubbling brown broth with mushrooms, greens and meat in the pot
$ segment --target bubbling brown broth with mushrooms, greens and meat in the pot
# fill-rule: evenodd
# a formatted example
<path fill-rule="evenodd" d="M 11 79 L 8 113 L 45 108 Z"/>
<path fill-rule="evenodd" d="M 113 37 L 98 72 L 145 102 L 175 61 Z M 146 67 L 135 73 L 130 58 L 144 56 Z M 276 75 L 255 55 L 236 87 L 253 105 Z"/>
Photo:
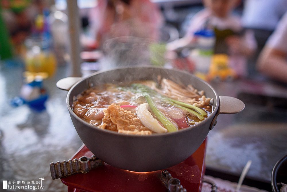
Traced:
<path fill-rule="evenodd" d="M 210 99 L 192 85 L 159 78 L 104 84 L 85 90 L 73 112 L 89 124 L 122 134 L 174 132 L 204 121 L 212 113 Z"/>

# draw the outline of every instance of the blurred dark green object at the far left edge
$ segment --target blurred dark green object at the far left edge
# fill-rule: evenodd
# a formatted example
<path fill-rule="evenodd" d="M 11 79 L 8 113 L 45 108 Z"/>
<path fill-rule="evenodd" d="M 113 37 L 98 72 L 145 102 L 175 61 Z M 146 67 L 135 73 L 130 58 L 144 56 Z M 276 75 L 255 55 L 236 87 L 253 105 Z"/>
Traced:
<path fill-rule="evenodd" d="M 0 6 L 0 59 L 10 59 L 13 56 L 10 37 L 2 18 L 2 9 Z"/>

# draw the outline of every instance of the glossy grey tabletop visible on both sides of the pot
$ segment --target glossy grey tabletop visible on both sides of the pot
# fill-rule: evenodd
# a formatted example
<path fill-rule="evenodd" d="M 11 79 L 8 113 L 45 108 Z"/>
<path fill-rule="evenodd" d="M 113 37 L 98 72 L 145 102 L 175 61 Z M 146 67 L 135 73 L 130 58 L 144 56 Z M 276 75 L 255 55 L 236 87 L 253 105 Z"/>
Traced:
<path fill-rule="evenodd" d="M 32 181 L 44 177 L 44 191 L 66 191 L 59 179 L 51 180 L 49 164 L 68 160 L 82 146 L 66 107 L 67 92 L 55 86 L 57 80 L 69 76 L 69 67 L 58 67 L 53 78 L 44 80 L 49 99 L 40 113 L 27 105 L 9 105 L 9 100 L 19 95 L 23 71 L 19 64 L 2 64 L 0 68 L 0 129 L 4 134 L 0 178 Z M 286 85 L 260 77 L 211 85 L 218 95 L 238 97 L 246 107 L 239 114 L 218 116 L 208 135 L 206 166 L 240 175 L 246 162 L 252 160 L 247 176 L 269 182 L 274 164 L 287 154 Z"/>

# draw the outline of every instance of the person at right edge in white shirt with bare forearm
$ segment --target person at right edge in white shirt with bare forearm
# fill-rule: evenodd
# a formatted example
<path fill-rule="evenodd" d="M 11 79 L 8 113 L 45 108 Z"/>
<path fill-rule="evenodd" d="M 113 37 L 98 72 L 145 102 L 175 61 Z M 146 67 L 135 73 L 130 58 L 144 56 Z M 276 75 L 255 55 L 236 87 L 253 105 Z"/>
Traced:
<path fill-rule="evenodd" d="M 287 83 L 287 12 L 260 53 L 257 69 L 271 78 Z"/>

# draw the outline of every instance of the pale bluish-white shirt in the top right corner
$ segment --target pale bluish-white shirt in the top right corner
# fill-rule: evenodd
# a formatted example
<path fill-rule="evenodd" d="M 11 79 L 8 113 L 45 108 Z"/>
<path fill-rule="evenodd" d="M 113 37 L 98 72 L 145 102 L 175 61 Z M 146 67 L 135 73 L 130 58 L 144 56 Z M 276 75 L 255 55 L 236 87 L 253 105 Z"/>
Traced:
<path fill-rule="evenodd" d="M 242 24 L 246 28 L 273 31 L 287 11 L 287 0 L 245 0 Z"/>

